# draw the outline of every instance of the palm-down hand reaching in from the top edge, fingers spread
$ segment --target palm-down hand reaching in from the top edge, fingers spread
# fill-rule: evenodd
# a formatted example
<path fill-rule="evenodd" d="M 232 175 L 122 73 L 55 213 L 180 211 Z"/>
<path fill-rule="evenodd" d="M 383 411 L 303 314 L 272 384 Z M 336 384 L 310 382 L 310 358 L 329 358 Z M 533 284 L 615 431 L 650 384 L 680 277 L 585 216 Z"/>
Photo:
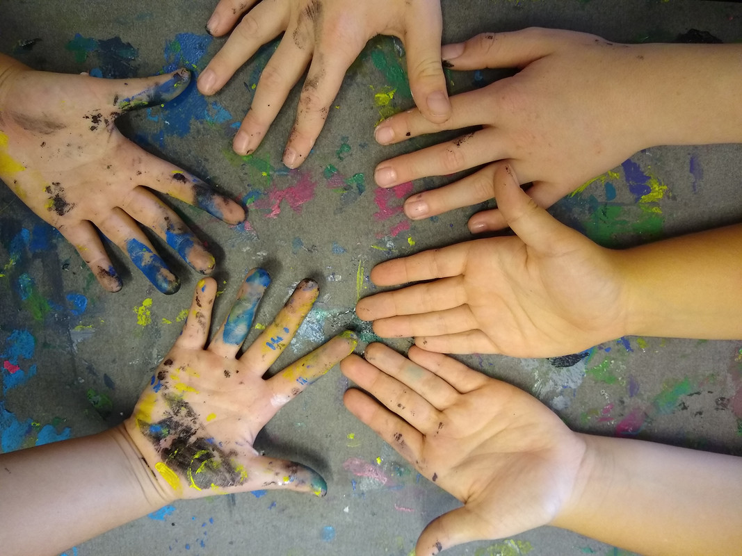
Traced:
<path fill-rule="evenodd" d="M 421 115 L 438 123 L 450 116 L 441 67 L 439 0 L 220 0 L 206 28 L 222 36 L 243 14 L 232 36 L 199 76 L 201 93 L 216 93 L 261 44 L 285 33 L 263 69 L 252 107 L 234 136 L 237 153 L 252 153 L 260 145 L 309 64 L 283 153 L 286 166 L 301 165 L 324 125 L 345 72 L 366 42 L 380 33 L 404 42 L 410 88 Z"/>

